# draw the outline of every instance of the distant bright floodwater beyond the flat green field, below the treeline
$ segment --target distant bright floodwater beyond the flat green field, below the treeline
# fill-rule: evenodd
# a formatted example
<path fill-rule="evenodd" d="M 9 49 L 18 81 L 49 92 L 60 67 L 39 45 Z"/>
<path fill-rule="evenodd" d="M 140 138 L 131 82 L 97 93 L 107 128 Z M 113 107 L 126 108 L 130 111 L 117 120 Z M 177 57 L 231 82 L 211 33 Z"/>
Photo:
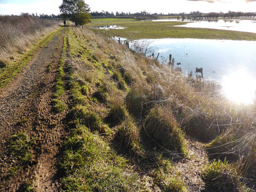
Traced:
<path fill-rule="evenodd" d="M 218 30 L 233 30 L 256 33 L 256 20 L 245 19 L 156 19 L 148 21 L 189 22 L 176 27 L 209 28 Z"/>

